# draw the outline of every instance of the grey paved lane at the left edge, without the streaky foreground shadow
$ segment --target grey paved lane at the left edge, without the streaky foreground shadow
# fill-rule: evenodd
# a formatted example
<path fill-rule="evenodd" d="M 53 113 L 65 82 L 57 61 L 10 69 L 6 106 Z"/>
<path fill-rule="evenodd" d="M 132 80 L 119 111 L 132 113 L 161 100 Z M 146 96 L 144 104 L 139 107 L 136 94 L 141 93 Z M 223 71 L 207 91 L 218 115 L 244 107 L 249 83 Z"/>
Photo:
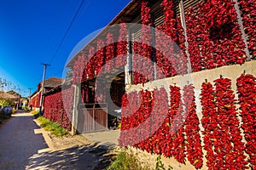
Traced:
<path fill-rule="evenodd" d="M 29 157 L 48 148 L 42 134 L 34 133 L 39 127 L 32 120 L 30 113 L 20 112 L 0 127 L 0 169 L 25 169 Z"/>

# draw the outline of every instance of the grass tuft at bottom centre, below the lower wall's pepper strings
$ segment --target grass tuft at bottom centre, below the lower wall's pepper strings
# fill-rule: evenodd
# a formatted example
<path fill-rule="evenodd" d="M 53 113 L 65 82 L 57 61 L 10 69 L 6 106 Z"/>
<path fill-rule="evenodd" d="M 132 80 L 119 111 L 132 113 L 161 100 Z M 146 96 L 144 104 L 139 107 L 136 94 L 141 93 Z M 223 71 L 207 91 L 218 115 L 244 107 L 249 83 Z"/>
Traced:
<path fill-rule="evenodd" d="M 146 170 L 146 167 L 142 167 L 138 158 L 133 154 L 128 154 L 124 150 L 120 151 L 113 159 L 107 170 Z"/>

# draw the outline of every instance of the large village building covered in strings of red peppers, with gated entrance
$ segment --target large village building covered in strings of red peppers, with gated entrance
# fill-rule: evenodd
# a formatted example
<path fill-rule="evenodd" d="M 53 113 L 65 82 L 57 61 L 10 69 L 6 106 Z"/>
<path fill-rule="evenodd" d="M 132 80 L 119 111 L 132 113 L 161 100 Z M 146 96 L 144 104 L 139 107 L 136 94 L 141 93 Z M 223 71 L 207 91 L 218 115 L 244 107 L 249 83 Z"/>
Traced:
<path fill-rule="evenodd" d="M 73 133 L 121 116 L 119 145 L 183 169 L 256 168 L 255 6 L 132 0 L 73 56 L 44 116 Z"/>

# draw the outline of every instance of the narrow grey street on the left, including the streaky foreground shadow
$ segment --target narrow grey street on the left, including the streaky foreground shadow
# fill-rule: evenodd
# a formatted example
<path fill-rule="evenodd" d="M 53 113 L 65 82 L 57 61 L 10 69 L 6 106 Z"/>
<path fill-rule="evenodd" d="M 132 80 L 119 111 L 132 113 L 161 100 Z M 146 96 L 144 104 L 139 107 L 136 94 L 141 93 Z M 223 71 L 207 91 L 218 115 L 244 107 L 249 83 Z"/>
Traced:
<path fill-rule="evenodd" d="M 97 143 L 51 151 L 42 133 L 37 133 L 39 128 L 32 114 L 25 112 L 16 113 L 1 125 L 1 170 L 98 170 L 109 159 L 108 150 Z"/>

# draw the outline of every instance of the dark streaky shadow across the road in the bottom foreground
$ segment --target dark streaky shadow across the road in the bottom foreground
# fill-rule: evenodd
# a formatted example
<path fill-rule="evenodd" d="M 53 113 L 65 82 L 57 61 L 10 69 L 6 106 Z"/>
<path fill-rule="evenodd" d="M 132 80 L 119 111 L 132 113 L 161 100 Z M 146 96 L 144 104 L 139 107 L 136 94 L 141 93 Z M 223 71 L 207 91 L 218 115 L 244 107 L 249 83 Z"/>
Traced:
<path fill-rule="evenodd" d="M 103 169 L 110 163 L 108 151 L 94 145 L 35 154 L 26 169 Z"/>

